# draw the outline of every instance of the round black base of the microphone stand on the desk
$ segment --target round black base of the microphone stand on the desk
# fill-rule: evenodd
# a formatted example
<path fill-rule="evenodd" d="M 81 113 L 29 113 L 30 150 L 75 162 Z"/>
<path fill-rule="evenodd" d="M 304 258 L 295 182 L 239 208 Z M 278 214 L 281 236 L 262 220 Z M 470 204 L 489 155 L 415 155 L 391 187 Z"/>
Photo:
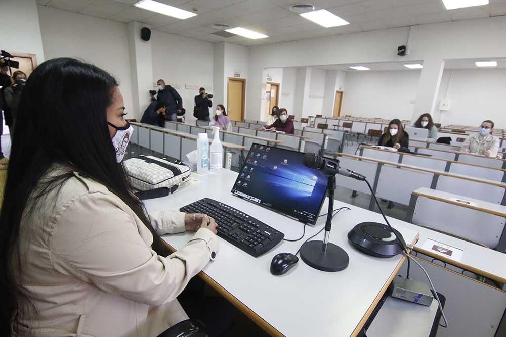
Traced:
<path fill-rule="evenodd" d="M 348 267 L 348 254 L 339 246 L 328 243 L 327 251 L 321 251 L 323 241 L 308 241 L 301 247 L 301 259 L 308 266 L 322 271 L 340 271 Z"/>

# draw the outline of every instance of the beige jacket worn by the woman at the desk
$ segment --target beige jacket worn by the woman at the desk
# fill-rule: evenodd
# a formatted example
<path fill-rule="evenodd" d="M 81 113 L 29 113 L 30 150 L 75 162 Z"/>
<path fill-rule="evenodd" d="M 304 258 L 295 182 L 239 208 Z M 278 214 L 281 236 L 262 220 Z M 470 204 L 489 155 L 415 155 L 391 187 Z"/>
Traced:
<path fill-rule="evenodd" d="M 160 235 L 185 231 L 184 213 L 149 215 Z M 167 257 L 152 242 L 132 209 L 74 172 L 58 194 L 23 216 L 19 276 L 38 314 L 18 315 L 14 333 L 151 337 L 187 319 L 176 297 L 216 254 L 218 238 L 200 228 Z"/>

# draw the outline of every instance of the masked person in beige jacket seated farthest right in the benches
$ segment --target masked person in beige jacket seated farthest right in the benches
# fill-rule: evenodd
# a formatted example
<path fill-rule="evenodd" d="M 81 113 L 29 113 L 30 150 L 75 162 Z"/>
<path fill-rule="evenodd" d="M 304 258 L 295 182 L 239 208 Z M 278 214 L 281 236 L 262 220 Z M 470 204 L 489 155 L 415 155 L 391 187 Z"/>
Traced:
<path fill-rule="evenodd" d="M 480 125 L 480 131 L 468 136 L 464 140 L 460 151 L 485 157 L 496 157 L 497 151 L 499 151 L 499 138 L 492 135 L 493 130 L 494 122 L 491 120 L 483 121 Z"/>

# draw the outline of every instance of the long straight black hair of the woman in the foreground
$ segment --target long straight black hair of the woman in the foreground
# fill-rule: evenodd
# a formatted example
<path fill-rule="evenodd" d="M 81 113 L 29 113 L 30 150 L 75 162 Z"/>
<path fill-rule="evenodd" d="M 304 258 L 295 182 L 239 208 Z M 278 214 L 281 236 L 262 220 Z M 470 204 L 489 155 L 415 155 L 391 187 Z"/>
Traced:
<path fill-rule="evenodd" d="M 0 212 L 0 335 L 10 335 L 16 311 L 30 303 L 21 279 L 20 222 L 27 212 L 77 171 L 106 186 L 125 202 L 153 234 L 153 249 L 169 252 L 156 235 L 121 164 L 116 163 L 107 126 L 107 108 L 117 81 L 102 69 L 72 59 L 40 64 L 22 93 L 18 123 Z M 67 167 L 51 179 L 41 177 L 55 165 Z M 29 202 L 28 202 L 29 201 Z"/>

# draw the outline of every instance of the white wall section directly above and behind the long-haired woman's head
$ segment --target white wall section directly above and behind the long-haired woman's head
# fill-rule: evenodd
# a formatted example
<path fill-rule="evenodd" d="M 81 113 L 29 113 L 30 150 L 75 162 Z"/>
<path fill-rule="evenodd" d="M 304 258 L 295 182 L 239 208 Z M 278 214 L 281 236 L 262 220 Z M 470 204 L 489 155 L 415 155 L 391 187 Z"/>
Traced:
<path fill-rule="evenodd" d="M 77 57 L 110 72 L 119 81 L 126 111 L 135 117 L 126 25 L 43 6 L 38 15 L 46 59 Z"/>

